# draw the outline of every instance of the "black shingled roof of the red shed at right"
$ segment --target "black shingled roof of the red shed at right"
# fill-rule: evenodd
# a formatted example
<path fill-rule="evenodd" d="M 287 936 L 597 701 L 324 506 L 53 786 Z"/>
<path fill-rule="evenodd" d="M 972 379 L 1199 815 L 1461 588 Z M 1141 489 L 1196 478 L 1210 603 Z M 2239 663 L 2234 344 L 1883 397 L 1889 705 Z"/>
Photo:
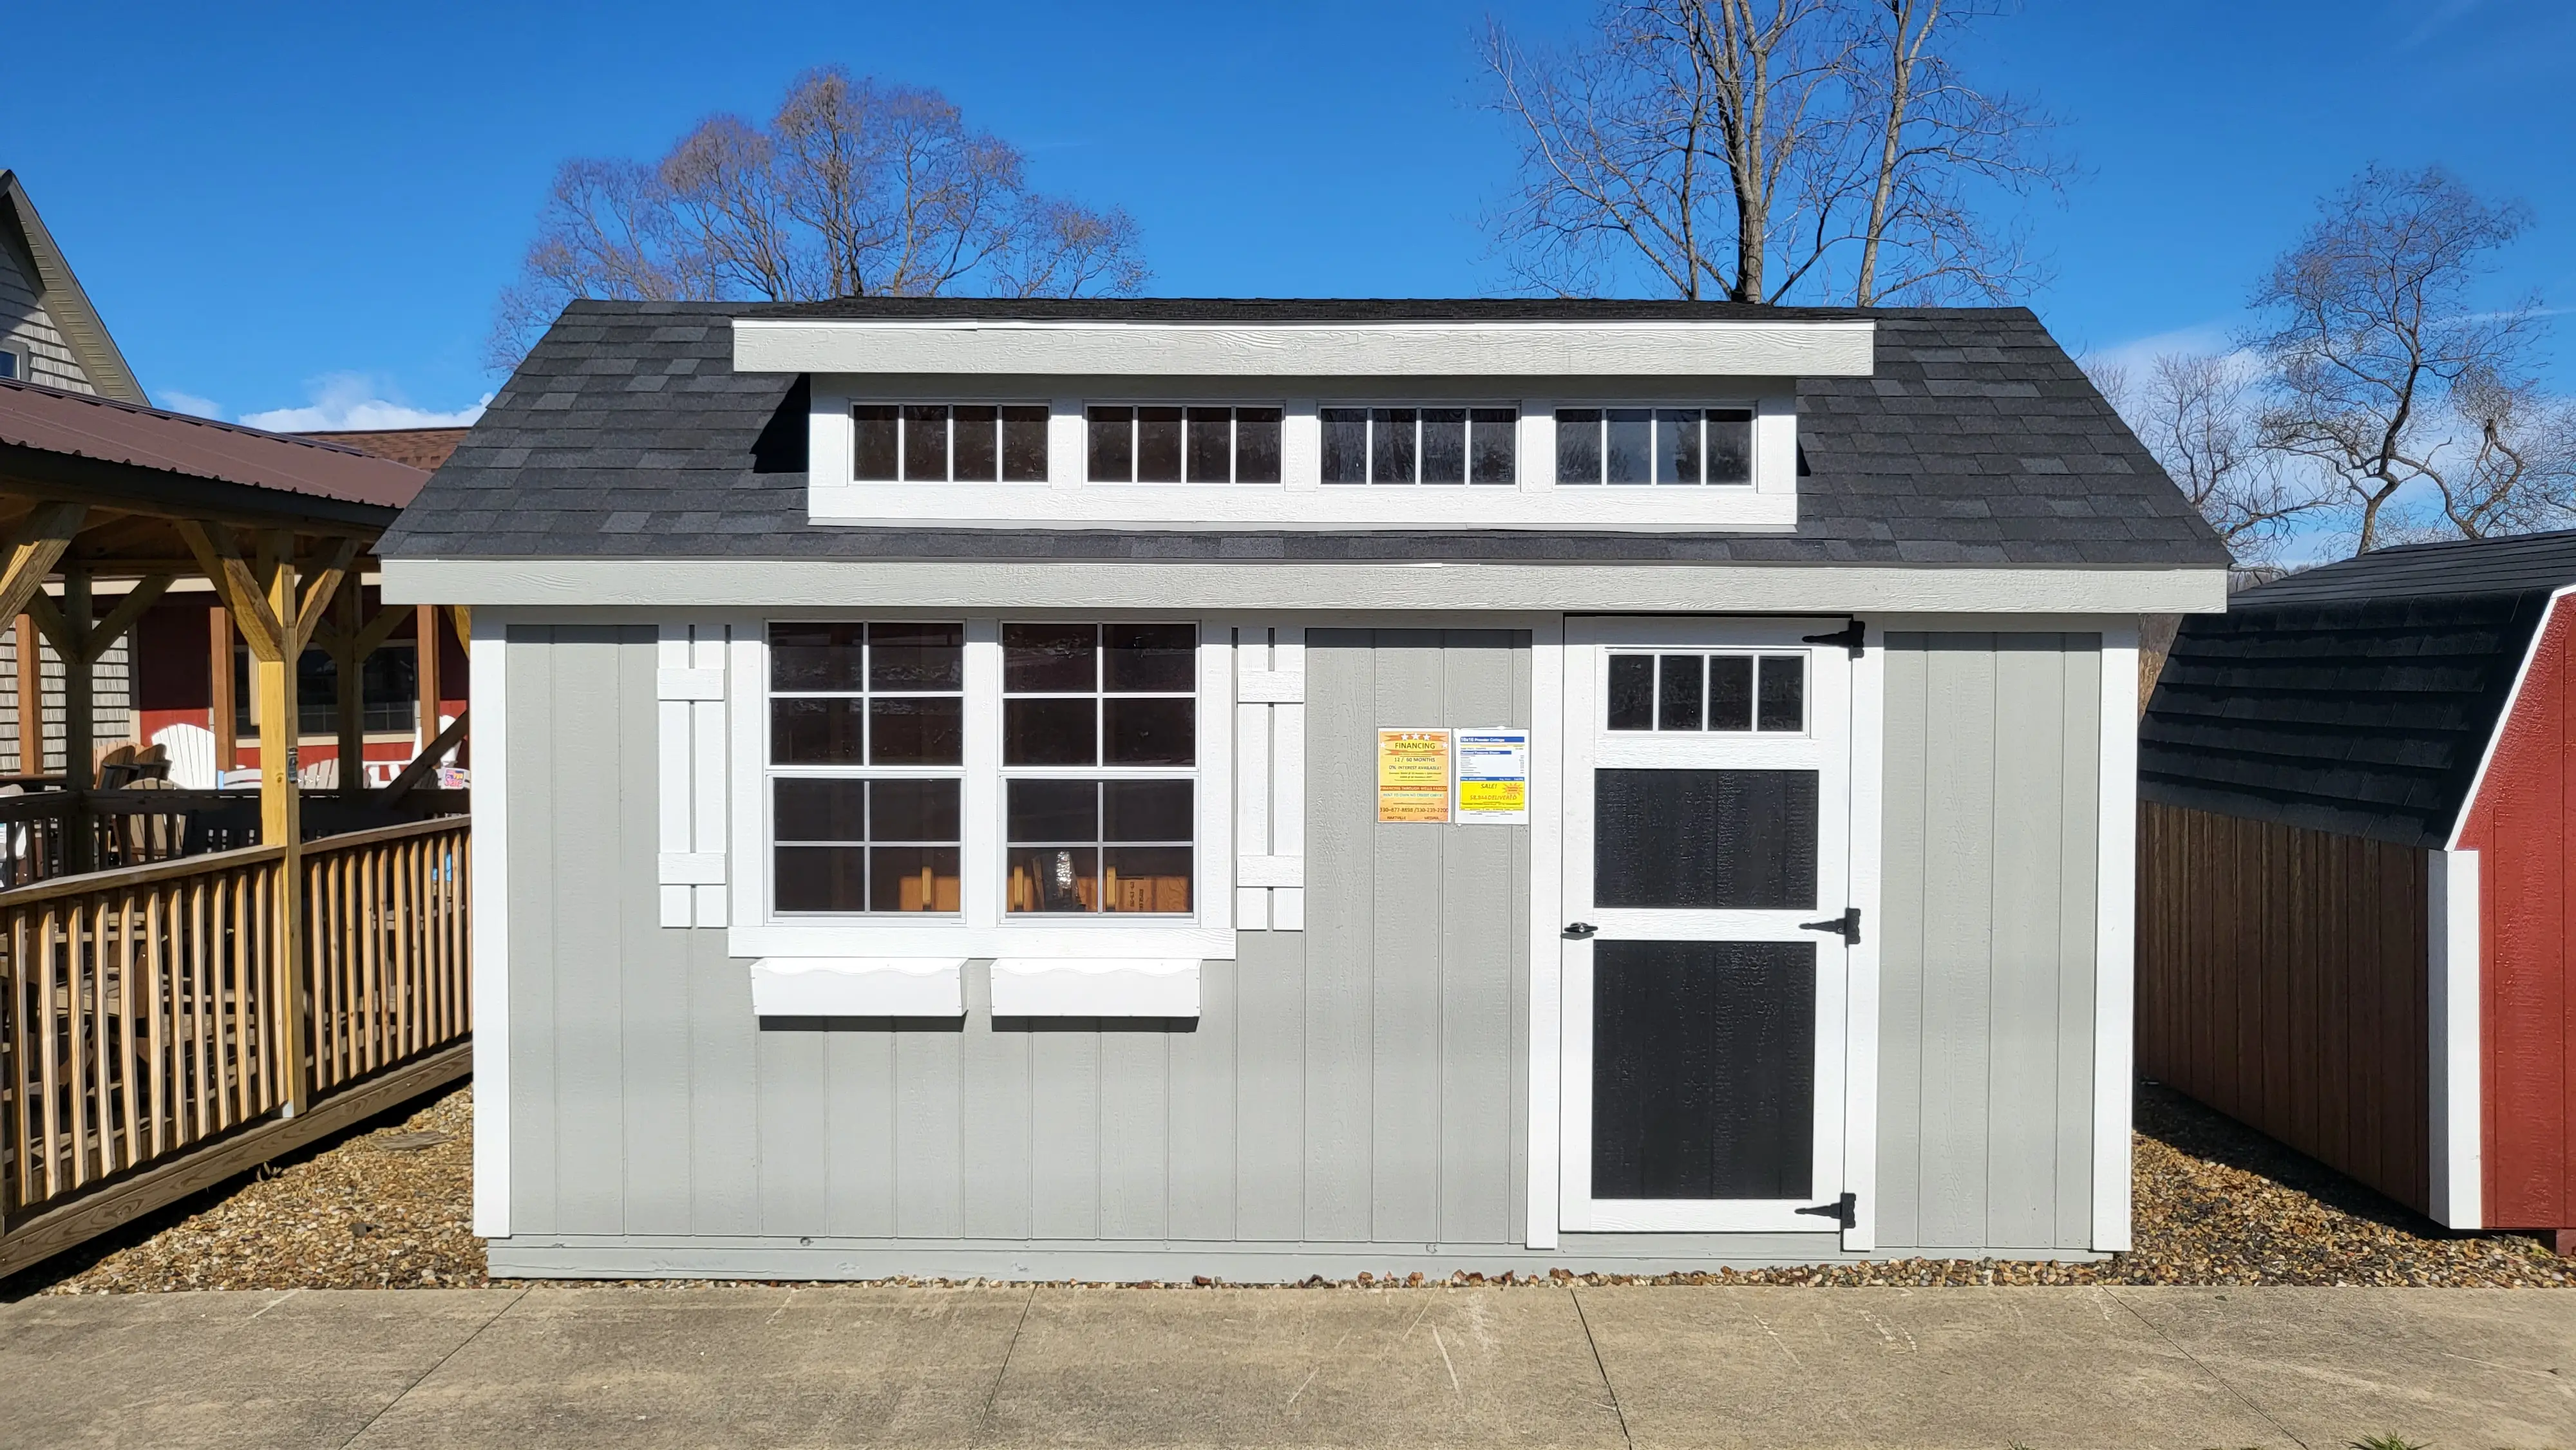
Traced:
<path fill-rule="evenodd" d="M 2576 531 L 2378 549 L 2190 616 L 2138 726 L 2138 788 L 2445 847 Z"/>

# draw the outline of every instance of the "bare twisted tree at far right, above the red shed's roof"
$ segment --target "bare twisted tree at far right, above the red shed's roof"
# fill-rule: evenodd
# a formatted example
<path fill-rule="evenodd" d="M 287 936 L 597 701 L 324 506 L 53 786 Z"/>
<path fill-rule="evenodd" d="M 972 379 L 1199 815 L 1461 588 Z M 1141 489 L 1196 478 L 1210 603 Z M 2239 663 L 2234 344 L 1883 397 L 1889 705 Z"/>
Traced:
<path fill-rule="evenodd" d="M 2334 484 L 2354 551 L 2576 518 L 2576 412 L 2540 394 L 2537 299 L 2473 309 L 2524 227 L 2442 167 L 2370 167 L 2324 198 L 2257 286 L 2272 368 L 2262 446 Z M 2406 489 L 2434 513 L 2411 513 Z"/>

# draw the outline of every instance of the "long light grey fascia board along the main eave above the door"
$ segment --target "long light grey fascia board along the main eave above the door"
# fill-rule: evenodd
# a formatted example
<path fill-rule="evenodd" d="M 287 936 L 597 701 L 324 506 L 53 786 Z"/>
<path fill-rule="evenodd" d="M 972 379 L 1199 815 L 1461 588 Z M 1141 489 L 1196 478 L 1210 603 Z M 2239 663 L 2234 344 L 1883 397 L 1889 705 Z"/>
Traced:
<path fill-rule="evenodd" d="M 2226 569 L 1886 564 L 1275 564 L 392 559 L 386 603 L 742 610 L 2221 613 Z"/>

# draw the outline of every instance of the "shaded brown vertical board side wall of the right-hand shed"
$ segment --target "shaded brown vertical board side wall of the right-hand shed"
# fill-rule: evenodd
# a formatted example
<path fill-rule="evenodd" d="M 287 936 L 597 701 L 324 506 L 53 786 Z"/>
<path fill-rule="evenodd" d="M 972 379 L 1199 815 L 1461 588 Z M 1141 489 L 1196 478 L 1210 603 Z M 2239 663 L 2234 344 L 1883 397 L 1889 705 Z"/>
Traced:
<path fill-rule="evenodd" d="M 2141 801 L 2138 1071 L 2427 1210 L 2427 852 Z"/>

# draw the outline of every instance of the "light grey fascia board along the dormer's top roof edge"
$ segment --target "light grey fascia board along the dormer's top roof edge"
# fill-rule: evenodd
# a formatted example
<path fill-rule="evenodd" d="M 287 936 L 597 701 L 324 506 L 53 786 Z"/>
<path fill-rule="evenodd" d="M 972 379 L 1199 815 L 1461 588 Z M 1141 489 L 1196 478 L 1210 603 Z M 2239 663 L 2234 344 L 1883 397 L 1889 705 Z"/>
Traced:
<path fill-rule="evenodd" d="M 744 373 L 1865 379 L 1873 322 L 734 322 Z"/>

